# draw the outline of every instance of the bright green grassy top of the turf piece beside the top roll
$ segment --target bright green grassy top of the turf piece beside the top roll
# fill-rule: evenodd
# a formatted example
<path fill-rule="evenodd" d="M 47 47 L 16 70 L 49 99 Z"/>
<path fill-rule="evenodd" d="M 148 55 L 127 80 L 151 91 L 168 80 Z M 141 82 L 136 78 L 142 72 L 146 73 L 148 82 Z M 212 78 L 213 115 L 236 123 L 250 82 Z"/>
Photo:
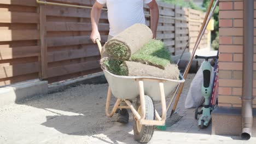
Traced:
<path fill-rule="evenodd" d="M 164 69 L 171 62 L 169 51 L 161 40 L 150 40 L 131 56 L 131 61 L 154 65 Z"/>

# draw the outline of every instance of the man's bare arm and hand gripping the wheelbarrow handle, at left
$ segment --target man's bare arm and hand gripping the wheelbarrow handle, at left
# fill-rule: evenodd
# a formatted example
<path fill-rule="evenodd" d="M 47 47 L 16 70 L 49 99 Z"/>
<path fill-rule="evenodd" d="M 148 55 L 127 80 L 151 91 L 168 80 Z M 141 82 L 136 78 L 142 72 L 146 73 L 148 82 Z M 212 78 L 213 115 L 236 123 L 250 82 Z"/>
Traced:
<path fill-rule="evenodd" d="M 91 40 L 94 43 L 96 39 L 101 40 L 100 32 L 98 32 L 98 21 L 100 20 L 102 8 L 103 5 L 96 1 L 91 9 Z"/>

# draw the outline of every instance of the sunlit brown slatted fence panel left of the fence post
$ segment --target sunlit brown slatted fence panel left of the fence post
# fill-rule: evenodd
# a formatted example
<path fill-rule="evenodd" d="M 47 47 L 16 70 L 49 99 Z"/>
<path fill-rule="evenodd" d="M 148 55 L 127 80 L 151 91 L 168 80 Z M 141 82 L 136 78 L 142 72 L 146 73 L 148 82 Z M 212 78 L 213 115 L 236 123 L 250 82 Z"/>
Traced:
<path fill-rule="evenodd" d="M 36 1 L 0 2 L 0 86 L 37 79 L 40 71 Z"/>

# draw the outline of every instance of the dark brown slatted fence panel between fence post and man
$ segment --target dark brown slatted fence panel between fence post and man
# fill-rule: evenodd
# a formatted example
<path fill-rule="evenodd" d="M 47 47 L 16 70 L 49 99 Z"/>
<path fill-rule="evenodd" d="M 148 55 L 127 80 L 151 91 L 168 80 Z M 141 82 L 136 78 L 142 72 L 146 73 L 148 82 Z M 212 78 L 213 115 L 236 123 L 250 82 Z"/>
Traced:
<path fill-rule="evenodd" d="M 94 1 L 56 2 L 91 6 Z M 45 5 L 45 15 L 45 79 L 51 83 L 101 71 L 100 53 L 90 39 L 90 9 Z M 104 44 L 109 31 L 107 11 L 102 10 L 99 30 Z"/>

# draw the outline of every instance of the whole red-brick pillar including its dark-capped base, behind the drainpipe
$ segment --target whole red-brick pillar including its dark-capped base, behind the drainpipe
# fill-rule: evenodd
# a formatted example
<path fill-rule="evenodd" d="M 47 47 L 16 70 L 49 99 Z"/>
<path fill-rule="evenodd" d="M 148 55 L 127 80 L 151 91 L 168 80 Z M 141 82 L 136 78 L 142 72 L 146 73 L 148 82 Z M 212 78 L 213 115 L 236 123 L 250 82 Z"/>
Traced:
<path fill-rule="evenodd" d="M 254 8 L 256 8 L 256 1 L 254 1 Z M 254 32 L 256 31 L 254 30 Z M 255 48 L 254 52 L 256 52 Z M 212 134 L 237 136 L 241 134 L 242 61 L 243 1 L 220 0 L 219 107 L 212 112 Z M 254 62 L 256 62 L 256 57 Z M 255 66 L 254 70 L 256 70 Z M 256 73 L 254 72 L 254 74 Z M 256 87 L 255 82 L 253 81 L 254 87 Z M 256 95 L 255 88 L 253 93 Z M 255 100 L 253 103 L 253 107 L 256 107 Z M 256 136 L 256 109 L 253 110 L 253 113 L 252 135 L 254 137 Z"/>

